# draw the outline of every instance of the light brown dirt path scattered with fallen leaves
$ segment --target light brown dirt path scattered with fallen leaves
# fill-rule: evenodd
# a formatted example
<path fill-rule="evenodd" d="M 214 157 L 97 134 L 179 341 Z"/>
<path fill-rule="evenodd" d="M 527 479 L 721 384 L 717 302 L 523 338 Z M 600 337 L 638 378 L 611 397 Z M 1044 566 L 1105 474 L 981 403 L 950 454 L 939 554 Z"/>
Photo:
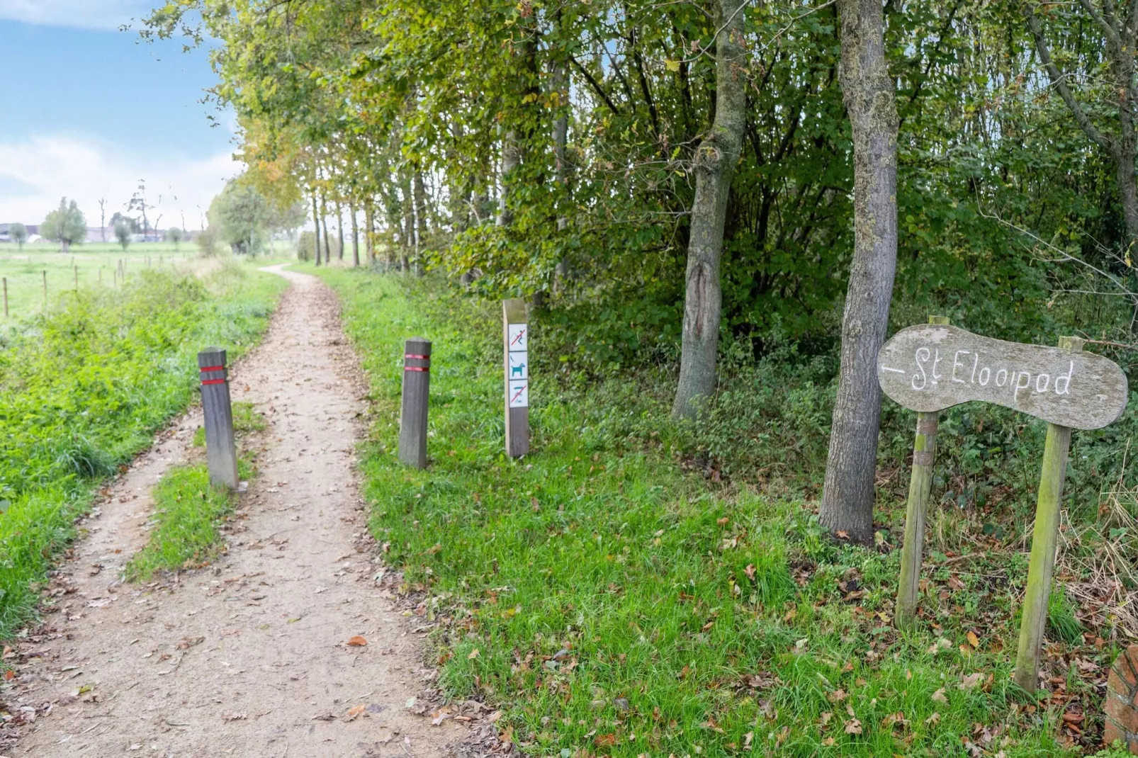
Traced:
<path fill-rule="evenodd" d="M 22 645 L 8 699 L 41 714 L 10 756 L 447 756 L 463 730 L 413 715 L 418 637 L 373 580 L 356 491 L 358 370 L 318 279 L 280 266 L 264 344 L 234 399 L 269 422 L 229 555 L 173 587 L 118 584 L 146 542 L 149 488 L 182 460 L 191 415 L 122 477 L 64 567 L 75 592 Z M 414 619 L 418 620 L 418 619 Z M 365 646 L 349 646 L 355 635 Z M 44 703 L 50 703 L 50 708 Z"/>

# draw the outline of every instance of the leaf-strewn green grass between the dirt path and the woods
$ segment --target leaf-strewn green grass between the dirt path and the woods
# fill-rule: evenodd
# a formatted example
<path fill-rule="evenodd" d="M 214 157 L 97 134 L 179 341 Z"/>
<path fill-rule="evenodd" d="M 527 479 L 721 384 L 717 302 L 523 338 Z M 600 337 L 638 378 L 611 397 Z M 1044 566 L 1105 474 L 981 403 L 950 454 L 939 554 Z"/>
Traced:
<path fill-rule="evenodd" d="M 1095 744 L 1112 644 L 1049 640 L 1062 685 L 1032 706 L 1013 691 L 1023 552 L 992 541 L 950 562 L 932 538 L 920 631 L 901 635 L 900 551 L 832 543 L 810 502 L 684 475 L 669 381 L 559 377 L 531 324 L 533 452 L 512 461 L 496 304 L 319 274 L 371 381 L 371 529 L 439 623 L 440 684 L 501 707 L 527 753 L 1055 756 L 1080 744 L 1065 708 Z M 396 459 L 402 340 L 417 335 L 434 340 L 424 471 Z"/>

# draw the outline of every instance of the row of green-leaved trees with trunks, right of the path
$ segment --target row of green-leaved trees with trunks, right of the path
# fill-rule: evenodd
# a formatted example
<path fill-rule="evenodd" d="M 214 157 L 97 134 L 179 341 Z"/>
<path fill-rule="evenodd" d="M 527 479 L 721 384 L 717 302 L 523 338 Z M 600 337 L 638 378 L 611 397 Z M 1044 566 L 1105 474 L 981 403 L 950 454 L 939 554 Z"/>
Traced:
<path fill-rule="evenodd" d="M 721 339 L 840 338 L 822 518 L 857 539 L 894 280 L 1011 338 L 1085 275 L 1138 306 L 1138 0 L 176 0 L 143 35 L 176 34 L 325 245 L 362 208 L 369 253 L 678 357 L 677 417 Z"/>

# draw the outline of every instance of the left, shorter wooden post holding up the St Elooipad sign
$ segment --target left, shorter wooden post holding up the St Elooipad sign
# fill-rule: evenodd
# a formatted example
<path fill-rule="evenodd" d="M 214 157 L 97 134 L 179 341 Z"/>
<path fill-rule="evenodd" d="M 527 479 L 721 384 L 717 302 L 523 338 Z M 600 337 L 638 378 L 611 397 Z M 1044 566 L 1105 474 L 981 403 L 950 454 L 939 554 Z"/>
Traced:
<path fill-rule="evenodd" d="M 947 324 L 947 316 L 929 316 L 929 323 Z M 909 502 L 905 511 L 905 543 L 901 547 L 901 578 L 897 587 L 897 628 L 908 628 L 916 619 L 921 562 L 924 557 L 925 514 L 932 489 L 933 463 L 937 459 L 937 411 L 917 412 L 917 435 L 913 444 L 913 476 L 909 478 Z"/>

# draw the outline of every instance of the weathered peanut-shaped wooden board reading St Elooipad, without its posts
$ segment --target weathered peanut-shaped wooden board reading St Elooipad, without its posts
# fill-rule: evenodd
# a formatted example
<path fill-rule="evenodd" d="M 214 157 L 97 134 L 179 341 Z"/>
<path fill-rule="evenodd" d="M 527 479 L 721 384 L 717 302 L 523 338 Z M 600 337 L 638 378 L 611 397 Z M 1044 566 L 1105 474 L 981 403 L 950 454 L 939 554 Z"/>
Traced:
<path fill-rule="evenodd" d="M 1074 429 L 1098 429 L 1127 406 L 1127 377 L 1110 359 L 1005 343 L 956 327 L 909 327 L 877 353 L 877 381 L 914 411 L 996 403 Z"/>

